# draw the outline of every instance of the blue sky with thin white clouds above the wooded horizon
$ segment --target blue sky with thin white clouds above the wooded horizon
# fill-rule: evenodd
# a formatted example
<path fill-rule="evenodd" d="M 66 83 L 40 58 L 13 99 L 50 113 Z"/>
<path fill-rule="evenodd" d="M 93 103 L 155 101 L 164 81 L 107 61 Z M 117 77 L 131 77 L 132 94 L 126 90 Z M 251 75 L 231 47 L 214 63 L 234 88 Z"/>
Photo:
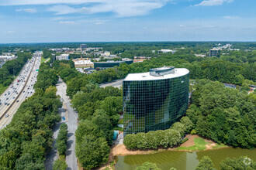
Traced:
<path fill-rule="evenodd" d="M 256 0 L 0 0 L 0 43 L 256 41 Z"/>

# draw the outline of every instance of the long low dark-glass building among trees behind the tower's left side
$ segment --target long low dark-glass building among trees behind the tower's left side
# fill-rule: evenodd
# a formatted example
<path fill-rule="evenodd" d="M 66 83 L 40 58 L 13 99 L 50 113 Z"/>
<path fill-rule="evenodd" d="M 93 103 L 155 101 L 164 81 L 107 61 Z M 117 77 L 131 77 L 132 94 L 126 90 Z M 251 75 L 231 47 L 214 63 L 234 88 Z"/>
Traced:
<path fill-rule="evenodd" d="M 105 70 L 114 66 L 119 66 L 120 63 L 133 63 L 132 59 L 125 59 L 122 61 L 106 61 L 106 62 L 94 62 L 94 69 L 95 70 Z"/>

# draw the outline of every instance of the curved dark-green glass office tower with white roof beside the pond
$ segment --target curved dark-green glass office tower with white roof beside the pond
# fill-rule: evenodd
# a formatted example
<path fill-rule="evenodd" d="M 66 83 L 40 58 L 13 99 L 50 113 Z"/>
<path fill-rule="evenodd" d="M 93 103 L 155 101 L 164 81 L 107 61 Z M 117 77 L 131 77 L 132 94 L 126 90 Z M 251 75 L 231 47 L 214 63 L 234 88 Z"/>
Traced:
<path fill-rule="evenodd" d="M 124 135 L 163 130 L 189 105 L 189 70 L 173 66 L 128 74 L 123 80 Z"/>

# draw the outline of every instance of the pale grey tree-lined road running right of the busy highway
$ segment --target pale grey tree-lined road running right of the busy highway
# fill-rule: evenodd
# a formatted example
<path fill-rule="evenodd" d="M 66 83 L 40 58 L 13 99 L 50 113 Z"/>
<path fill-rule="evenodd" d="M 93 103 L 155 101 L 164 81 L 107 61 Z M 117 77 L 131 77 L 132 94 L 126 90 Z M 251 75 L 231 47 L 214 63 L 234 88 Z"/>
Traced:
<path fill-rule="evenodd" d="M 67 85 L 63 82 L 63 80 L 59 79 L 57 83 L 57 94 L 61 96 L 61 100 L 63 101 L 63 107 L 65 115 L 65 123 L 67 124 L 68 133 L 67 133 L 67 152 L 66 152 L 66 162 L 67 162 L 67 169 L 77 170 L 78 163 L 74 152 L 75 146 L 75 137 L 74 133 L 78 128 L 78 113 L 73 110 L 71 107 L 71 103 L 69 97 L 66 95 Z"/>

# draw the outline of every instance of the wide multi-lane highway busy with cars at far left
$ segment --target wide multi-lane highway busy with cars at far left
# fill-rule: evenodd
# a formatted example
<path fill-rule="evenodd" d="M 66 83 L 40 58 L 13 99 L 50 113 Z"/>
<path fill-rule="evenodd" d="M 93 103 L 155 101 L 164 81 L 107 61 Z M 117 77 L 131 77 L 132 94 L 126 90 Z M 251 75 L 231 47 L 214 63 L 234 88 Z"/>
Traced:
<path fill-rule="evenodd" d="M 19 76 L 0 96 L 0 129 L 12 121 L 13 115 L 27 97 L 33 95 L 33 86 L 41 63 L 42 52 L 34 53 L 32 59 L 23 66 Z"/>

